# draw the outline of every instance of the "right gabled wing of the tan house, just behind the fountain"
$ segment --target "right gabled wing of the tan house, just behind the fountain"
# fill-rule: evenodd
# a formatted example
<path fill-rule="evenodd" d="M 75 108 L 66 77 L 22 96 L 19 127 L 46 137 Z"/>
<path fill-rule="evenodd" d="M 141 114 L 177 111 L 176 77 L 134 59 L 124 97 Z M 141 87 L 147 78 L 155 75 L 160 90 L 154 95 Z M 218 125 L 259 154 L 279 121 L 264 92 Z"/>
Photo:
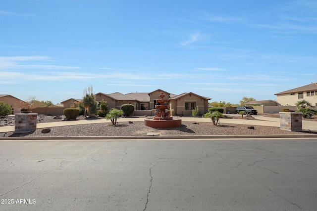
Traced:
<path fill-rule="evenodd" d="M 193 92 L 175 95 L 169 98 L 169 108 L 174 109 L 175 114 L 191 116 L 192 110 L 199 106 L 199 114 L 208 113 L 208 101 L 211 98 L 203 97 Z"/>

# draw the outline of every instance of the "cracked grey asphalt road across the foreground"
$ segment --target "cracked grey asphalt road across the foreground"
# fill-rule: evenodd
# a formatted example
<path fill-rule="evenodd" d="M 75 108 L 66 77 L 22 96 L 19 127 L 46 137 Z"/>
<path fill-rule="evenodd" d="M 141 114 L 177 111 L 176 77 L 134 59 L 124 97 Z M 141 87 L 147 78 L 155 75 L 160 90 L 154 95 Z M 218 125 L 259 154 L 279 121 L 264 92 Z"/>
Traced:
<path fill-rule="evenodd" d="M 0 141 L 1 211 L 313 211 L 317 139 Z"/>

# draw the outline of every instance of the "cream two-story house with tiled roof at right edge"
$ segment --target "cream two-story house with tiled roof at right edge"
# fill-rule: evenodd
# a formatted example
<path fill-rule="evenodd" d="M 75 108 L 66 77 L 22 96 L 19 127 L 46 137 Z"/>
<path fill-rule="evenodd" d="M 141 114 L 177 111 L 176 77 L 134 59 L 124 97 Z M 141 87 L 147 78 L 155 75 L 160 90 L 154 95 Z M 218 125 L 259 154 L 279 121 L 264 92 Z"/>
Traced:
<path fill-rule="evenodd" d="M 312 83 L 287 91 L 276 93 L 276 101 L 281 105 L 295 106 L 300 100 L 307 100 L 312 106 L 317 106 L 317 84 Z"/>

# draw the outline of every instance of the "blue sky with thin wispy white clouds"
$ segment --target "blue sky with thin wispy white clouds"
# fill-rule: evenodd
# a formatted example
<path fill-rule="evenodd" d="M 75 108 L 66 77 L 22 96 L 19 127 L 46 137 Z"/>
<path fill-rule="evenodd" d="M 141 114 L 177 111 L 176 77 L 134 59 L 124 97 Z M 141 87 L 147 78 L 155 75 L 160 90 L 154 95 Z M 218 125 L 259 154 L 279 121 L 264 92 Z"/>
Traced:
<path fill-rule="evenodd" d="M 1 0 L 0 94 L 94 92 L 212 101 L 317 82 L 316 0 Z"/>

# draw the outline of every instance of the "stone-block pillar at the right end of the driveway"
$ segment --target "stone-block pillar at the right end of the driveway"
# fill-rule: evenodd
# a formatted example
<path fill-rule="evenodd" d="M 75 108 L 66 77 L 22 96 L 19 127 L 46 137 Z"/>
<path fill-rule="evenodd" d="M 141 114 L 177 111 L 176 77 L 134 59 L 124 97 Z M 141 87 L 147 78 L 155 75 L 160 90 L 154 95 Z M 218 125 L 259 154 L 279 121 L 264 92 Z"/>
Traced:
<path fill-rule="evenodd" d="M 279 112 L 281 129 L 289 131 L 302 131 L 301 112 Z"/>

